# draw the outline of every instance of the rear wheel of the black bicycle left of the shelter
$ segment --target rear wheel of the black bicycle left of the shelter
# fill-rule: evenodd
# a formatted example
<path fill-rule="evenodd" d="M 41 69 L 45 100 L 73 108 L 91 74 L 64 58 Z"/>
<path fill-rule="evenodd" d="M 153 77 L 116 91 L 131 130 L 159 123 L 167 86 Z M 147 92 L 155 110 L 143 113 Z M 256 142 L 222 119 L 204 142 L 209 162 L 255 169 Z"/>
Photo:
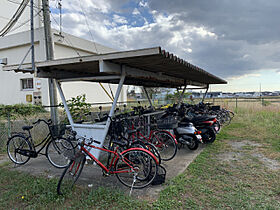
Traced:
<path fill-rule="evenodd" d="M 14 135 L 7 142 L 7 153 L 12 162 L 18 165 L 27 163 L 30 159 L 32 147 L 30 142 L 22 135 Z M 21 153 L 20 153 L 21 152 Z M 24 155 L 23 153 L 26 153 Z"/>

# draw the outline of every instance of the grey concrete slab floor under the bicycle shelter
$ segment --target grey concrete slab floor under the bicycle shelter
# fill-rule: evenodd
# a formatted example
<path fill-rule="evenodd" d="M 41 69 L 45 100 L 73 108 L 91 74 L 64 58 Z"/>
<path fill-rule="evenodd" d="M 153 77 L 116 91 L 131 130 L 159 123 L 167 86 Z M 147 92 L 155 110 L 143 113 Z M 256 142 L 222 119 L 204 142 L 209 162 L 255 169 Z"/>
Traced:
<path fill-rule="evenodd" d="M 204 145 L 195 151 L 190 151 L 187 148 L 181 148 L 178 150 L 175 158 L 170 161 L 163 162 L 162 165 L 166 168 L 166 181 L 172 179 L 173 177 L 184 172 L 188 165 L 200 154 L 203 150 Z M 0 157 L 2 162 L 6 158 Z M 22 166 L 17 166 L 14 164 L 10 165 L 12 170 L 23 171 L 30 173 L 32 175 L 40 175 L 47 178 L 60 177 L 63 169 L 57 169 L 53 167 L 47 160 L 45 156 L 39 156 L 36 159 L 30 159 L 28 163 Z M 84 185 L 90 188 L 108 187 L 113 189 L 119 189 L 129 194 L 130 189 L 122 185 L 116 176 L 104 177 L 102 175 L 102 170 L 96 165 L 87 164 L 85 165 L 83 172 L 77 182 L 77 184 Z M 158 197 L 159 192 L 163 190 L 166 186 L 163 185 L 151 185 L 144 189 L 133 190 L 133 197 L 154 200 Z"/>

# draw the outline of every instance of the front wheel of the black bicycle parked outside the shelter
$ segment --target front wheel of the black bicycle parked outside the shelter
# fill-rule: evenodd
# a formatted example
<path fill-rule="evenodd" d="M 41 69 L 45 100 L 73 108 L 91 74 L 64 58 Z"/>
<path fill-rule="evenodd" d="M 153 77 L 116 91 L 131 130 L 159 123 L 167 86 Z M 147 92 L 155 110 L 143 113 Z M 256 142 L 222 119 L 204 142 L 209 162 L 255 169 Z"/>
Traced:
<path fill-rule="evenodd" d="M 65 138 L 51 140 L 46 147 L 48 161 L 56 168 L 65 168 L 75 155 L 71 141 Z"/>

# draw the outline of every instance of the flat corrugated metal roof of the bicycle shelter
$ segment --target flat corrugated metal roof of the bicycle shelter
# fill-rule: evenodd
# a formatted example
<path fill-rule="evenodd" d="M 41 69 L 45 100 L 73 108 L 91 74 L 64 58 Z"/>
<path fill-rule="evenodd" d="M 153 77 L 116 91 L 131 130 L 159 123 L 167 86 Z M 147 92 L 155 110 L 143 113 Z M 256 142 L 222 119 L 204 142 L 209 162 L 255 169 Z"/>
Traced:
<path fill-rule="evenodd" d="M 112 64 L 113 67 L 110 71 L 105 71 L 101 68 L 102 62 Z M 91 79 L 86 77 L 119 75 L 118 66 L 129 69 L 125 80 L 125 84 L 129 85 L 179 87 L 184 84 L 203 86 L 227 83 L 160 47 L 36 63 L 39 77 L 56 79 L 84 77 L 84 80 L 88 81 Z M 24 65 L 23 68 L 28 68 L 28 65 Z M 16 70 L 15 66 L 6 66 L 3 69 Z M 100 80 L 100 82 L 118 83 L 118 80 Z"/>

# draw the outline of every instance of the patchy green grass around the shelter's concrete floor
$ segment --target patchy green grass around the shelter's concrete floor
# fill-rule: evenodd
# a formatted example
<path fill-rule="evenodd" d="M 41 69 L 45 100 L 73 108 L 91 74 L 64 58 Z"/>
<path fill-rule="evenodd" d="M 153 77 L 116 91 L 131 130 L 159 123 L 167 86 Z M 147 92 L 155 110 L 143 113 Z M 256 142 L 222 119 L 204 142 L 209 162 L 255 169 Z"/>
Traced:
<path fill-rule="evenodd" d="M 11 171 L 4 164 L 0 166 L 0 209 L 279 209 L 280 169 L 271 169 L 264 160 L 280 164 L 280 113 L 236 111 L 232 124 L 184 173 L 170 180 L 156 200 L 82 187 L 61 197 L 56 195 L 57 179 Z"/>

